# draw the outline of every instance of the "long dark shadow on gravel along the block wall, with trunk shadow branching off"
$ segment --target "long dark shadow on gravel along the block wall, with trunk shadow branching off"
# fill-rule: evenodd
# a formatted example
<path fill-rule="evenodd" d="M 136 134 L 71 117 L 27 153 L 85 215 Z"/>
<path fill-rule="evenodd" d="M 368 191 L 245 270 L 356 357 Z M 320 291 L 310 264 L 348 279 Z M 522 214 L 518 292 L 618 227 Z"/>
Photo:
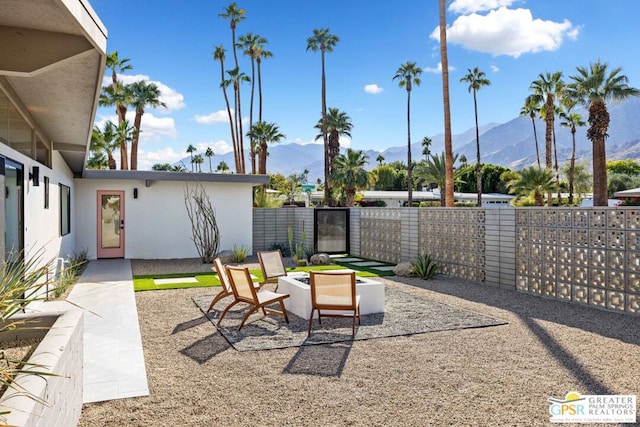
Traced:
<path fill-rule="evenodd" d="M 438 276 L 434 281 L 393 277 L 393 281 L 513 313 L 538 337 L 549 353 L 584 385 L 588 394 L 615 394 L 615 392 L 582 366 L 571 351 L 558 342 L 544 325 L 539 323 L 540 321 L 640 345 L 640 317 L 495 288 L 454 277 Z"/>

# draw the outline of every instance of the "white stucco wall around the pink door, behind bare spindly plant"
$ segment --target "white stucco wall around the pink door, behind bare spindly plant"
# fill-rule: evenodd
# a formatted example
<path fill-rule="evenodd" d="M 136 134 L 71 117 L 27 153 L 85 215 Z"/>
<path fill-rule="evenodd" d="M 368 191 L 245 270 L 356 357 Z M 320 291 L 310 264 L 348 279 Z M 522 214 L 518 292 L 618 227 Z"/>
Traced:
<path fill-rule="evenodd" d="M 193 184 L 191 184 L 193 185 Z M 253 228 L 252 185 L 205 182 L 216 210 L 220 250 L 235 245 L 251 248 Z M 133 198 L 133 189 L 138 198 Z M 184 204 L 185 183 L 143 180 L 76 179 L 76 247 L 89 259 L 97 257 L 97 191 L 124 191 L 125 258 L 170 259 L 198 257 L 191 240 L 191 223 Z"/>

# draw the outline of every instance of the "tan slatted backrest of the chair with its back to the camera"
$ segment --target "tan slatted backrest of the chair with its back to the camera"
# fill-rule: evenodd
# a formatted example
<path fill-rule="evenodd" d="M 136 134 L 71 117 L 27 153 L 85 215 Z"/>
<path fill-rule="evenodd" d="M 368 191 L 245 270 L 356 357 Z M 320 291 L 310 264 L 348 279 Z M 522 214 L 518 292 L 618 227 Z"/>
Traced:
<path fill-rule="evenodd" d="M 313 306 L 335 310 L 355 309 L 355 272 L 311 271 L 310 277 Z"/>

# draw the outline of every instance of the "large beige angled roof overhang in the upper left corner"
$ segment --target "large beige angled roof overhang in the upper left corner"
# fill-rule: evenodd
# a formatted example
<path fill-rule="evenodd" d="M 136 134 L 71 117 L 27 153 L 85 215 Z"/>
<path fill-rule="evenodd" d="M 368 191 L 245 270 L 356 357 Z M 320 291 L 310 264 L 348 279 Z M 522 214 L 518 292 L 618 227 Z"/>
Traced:
<path fill-rule="evenodd" d="M 86 0 L 3 0 L 0 40 L 0 90 L 80 173 L 105 68 L 104 25 Z"/>

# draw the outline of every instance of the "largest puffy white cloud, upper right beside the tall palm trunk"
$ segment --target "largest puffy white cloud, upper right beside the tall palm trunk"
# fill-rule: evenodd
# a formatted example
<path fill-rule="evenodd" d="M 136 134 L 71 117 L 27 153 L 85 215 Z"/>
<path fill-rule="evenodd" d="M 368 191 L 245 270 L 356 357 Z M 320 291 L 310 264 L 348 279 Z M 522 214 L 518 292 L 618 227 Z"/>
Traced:
<path fill-rule="evenodd" d="M 565 38 L 576 38 L 579 28 L 563 22 L 534 19 L 529 9 L 501 7 L 486 15 L 472 13 L 458 17 L 447 30 L 447 42 L 469 50 L 508 55 L 557 50 Z M 440 40 L 439 29 L 430 35 Z"/>

